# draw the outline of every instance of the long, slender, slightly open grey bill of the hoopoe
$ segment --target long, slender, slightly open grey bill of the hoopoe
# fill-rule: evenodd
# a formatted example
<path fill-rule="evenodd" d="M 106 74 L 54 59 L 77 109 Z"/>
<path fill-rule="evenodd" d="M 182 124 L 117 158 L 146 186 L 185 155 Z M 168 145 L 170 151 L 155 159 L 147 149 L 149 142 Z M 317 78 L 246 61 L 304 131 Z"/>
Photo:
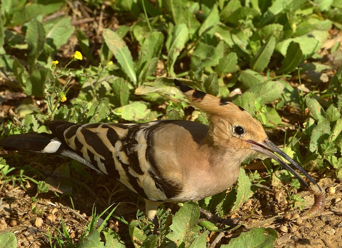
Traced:
<path fill-rule="evenodd" d="M 295 176 L 301 184 L 305 185 L 306 188 L 309 188 L 309 185 L 305 182 L 305 180 L 287 163 L 285 163 L 283 160 L 281 160 L 278 156 L 274 154 L 274 152 L 278 153 L 280 156 L 284 157 L 287 161 L 290 162 L 290 164 L 298 169 L 304 176 L 306 176 L 313 184 L 317 184 L 316 181 L 309 175 L 307 172 L 299 165 L 297 164 L 289 155 L 287 155 L 285 152 L 281 151 L 274 143 L 272 143 L 269 139 L 265 139 L 264 142 L 259 143 L 255 142 L 253 140 L 247 140 L 246 142 L 250 143 L 252 145 L 252 149 L 258 152 L 261 152 L 275 161 L 277 161 L 279 164 L 281 164 L 284 168 L 286 168 L 288 171 L 290 171 L 293 176 Z M 318 186 L 319 187 L 319 186 Z M 320 187 L 319 187 L 320 189 Z M 321 191 L 321 189 L 320 189 Z"/>

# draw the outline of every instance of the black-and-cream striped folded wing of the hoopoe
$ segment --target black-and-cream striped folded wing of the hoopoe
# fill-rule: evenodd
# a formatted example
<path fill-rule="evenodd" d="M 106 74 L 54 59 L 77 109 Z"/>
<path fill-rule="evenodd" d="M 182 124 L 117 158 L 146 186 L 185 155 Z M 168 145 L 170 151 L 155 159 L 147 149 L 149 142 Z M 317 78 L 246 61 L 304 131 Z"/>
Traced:
<path fill-rule="evenodd" d="M 170 130 L 170 127 L 173 127 L 172 133 L 177 133 L 175 129 L 184 132 L 186 129 L 180 125 L 182 122 L 74 124 L 52 121 L 49 128 L 64 144 L 56 153 L 119 180 L 146 199 L 176 201 L 181 197 L 183 188 L 181 167 L 170 158 L 167 147 L 158 145 L 163 143 L 158 139 L 158 133 L 165 133 L 164 130 Z M 198 142 L 203 137 L 198 137 Z M 163 166 L 165 163 L 167 168 L 174 168 L 172 173 Z"/>

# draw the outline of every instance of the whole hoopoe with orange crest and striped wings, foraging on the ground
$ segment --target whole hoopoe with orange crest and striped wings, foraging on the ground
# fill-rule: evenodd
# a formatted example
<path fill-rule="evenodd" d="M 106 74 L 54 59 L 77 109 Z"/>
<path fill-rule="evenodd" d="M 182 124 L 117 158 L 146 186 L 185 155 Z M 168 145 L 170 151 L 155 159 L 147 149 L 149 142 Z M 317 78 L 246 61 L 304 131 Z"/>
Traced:
<path fill-rule="evenodd" d="M 190 104 L 206 113 L 209 126 L 184 120 L 143 124 L 54 120 L 49 123 L 51 134 L 12 135 L 2 139 L 0 146 L 71 157 L 117 179 L 145 198 L 145 213 L 151 220 L 163 202 L 199 201 L 227 190 L 236 182 L 242 161 L 259 153 L 276 160 L 308 188 L 274 154 L 278 153 L 316 184 L 267 138 L 261 123 L 246 110 L 176 79 L 174 83 Z"/>

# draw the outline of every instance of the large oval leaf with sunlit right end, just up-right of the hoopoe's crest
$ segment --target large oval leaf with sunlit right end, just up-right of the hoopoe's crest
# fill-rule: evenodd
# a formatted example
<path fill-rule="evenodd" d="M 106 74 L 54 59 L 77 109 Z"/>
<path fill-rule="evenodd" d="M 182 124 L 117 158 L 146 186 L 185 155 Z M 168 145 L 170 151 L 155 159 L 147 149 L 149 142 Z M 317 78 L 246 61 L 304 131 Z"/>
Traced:
<path fill-rule="evenodd" d="M 268 81 L 252 86 L 249 91 L 254 93 L 255 98 L 260 97 L 262 104 L 269 104 L 280 98 L 284 92 L 284 85 L 278 81 Z"/>

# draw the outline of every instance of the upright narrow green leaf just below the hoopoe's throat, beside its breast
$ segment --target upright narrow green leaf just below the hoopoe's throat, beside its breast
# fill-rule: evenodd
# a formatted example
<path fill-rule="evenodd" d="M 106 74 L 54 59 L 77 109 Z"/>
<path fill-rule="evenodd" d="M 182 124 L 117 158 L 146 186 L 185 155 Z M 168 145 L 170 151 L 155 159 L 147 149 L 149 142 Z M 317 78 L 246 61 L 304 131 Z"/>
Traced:
<path fill-rule="evenodd" d="M 252 183 L 250 182 L 249 177 L 246 175 L 245 169 L 240 167 L 239 177 L 237 181 L 238 188 L 236 202 L 230 210 L 231 213 L 236 212 L 247 201 L 247 199 L 249 198 L 249 194 L 251 193 L 251 185 Z"/>

